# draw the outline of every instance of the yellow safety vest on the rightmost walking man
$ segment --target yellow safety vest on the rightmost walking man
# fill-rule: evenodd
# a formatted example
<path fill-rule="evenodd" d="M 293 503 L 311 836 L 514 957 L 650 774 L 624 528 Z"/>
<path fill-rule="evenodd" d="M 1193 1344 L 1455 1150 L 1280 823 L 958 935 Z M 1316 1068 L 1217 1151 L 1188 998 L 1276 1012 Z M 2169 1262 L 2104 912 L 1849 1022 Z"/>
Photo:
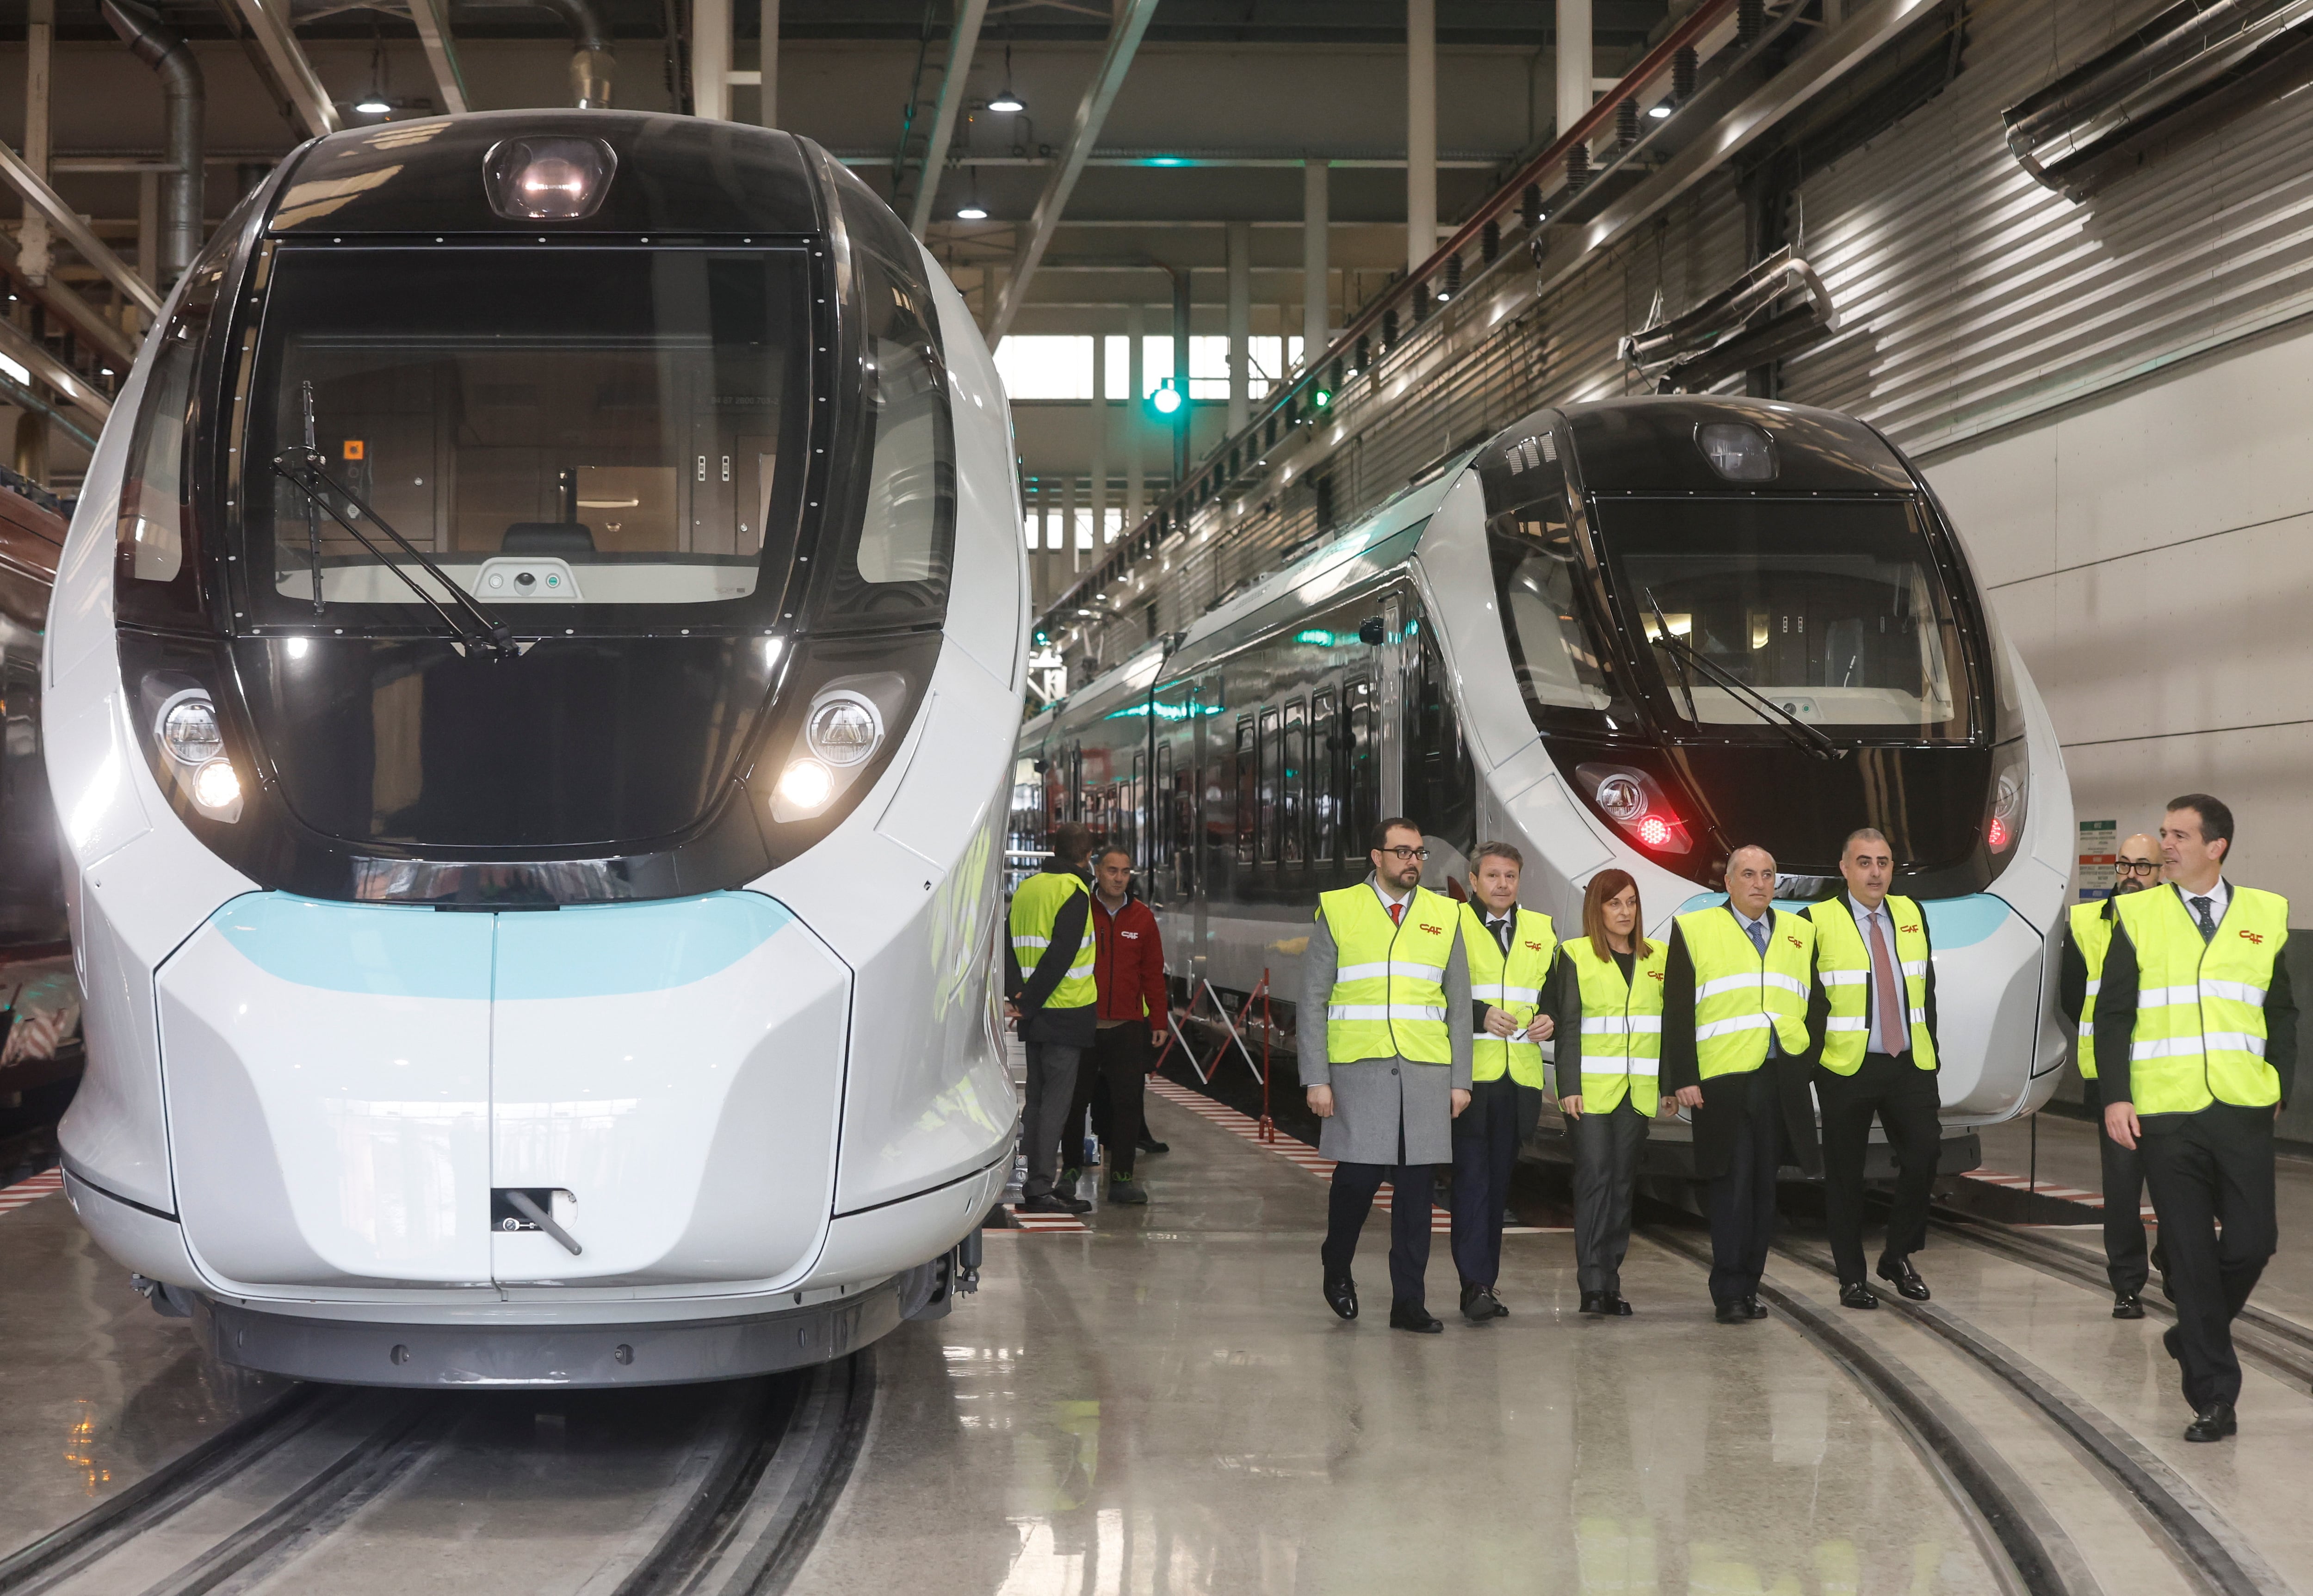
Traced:
<path fill-rule="evenodd" d="M 2264 990 L 2290 939 L 2290 900 L 2232 888 L 2209 941 L 2174 884 L 2114 902 L 2137 948 L 2137 1025 L 2128 1045 L 2128 1096 L 2137 1113 L 2278 1103 L 2281 1076 L 2264 1062 Z"/>

